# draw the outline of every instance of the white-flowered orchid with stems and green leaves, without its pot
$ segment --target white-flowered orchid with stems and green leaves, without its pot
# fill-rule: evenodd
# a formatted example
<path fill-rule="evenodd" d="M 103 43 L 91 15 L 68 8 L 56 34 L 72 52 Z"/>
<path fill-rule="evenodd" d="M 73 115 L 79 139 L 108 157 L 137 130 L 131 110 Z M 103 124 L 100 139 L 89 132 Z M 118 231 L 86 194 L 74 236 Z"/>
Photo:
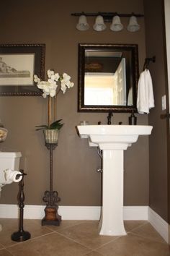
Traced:
<path fill-rule="evenodd" d="M 61 129 L 63 124 L 62 119 L 56 120 L 56 98 L 60 91 L 66 93 L 66 90 L 73 87 L 73 82 L 71 82 L 71 77 L 63 73 L 55 73 L 54 70 L 48 69 L 48 80 L 42 81 L 37 74 L 34 75 L 34 81 L 37 83 L 37 88 L 42 90 L 42 97 L 48 97 L 48 125 L 36 126 L 39 129 Z M 59 83 L 59 85 L 58 85 Z M 53 99 L 53 102 L 52 102 Z M 52 111 L 52 103 L 53 109 Z M 53 122 L 52 122 L 52 112 L 53 112 Z"/>

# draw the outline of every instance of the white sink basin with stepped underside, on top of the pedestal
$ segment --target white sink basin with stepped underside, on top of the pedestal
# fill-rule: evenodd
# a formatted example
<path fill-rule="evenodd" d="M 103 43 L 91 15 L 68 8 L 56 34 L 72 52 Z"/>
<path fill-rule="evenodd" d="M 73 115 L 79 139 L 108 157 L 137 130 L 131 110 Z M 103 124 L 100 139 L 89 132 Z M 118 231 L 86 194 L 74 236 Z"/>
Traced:
<path fill-rule="evenodd" d="M 90 146 L 127 149 L 139 135 L 150 135 L 152 127 L 146 125 L 81 125 L 79 135 L 89 139 Z"/>

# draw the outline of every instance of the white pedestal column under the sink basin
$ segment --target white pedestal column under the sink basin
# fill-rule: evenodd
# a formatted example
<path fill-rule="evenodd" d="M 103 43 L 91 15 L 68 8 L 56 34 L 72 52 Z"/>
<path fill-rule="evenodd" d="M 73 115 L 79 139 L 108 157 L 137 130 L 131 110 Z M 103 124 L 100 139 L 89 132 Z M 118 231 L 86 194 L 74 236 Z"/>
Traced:
<path fill-rule="evenodd" d="M 126 235 L 123 223 L 123 150 L 103 150 L 102 184 L 99 234 Z"/>

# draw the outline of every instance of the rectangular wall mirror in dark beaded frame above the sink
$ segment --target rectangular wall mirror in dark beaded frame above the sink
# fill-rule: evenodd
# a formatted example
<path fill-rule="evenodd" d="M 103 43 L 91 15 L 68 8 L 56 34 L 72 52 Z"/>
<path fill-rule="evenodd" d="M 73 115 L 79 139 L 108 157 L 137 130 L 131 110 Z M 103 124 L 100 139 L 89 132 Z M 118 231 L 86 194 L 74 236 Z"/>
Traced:
<path fill-rule="evenodd" d="M 79 44 L 78 111 L 136 111 L 138 45 Z"/>

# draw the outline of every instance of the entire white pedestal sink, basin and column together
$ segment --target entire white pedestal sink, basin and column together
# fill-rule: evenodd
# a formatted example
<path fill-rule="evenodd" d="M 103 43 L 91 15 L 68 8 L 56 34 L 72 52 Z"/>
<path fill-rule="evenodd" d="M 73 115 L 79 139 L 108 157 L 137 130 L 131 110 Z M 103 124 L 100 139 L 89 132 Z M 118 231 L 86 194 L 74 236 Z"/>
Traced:
<path fill-rule="evenodd" d="M 123 150 L 136 142 L 139 135 L 151 135 L 152 128 L 144 125 L 78 126 L 80 137 L 88 138 L 89 146 L 97 146 L 102 150 L 101 235 L 126 234 L 123 223 Z"/>

